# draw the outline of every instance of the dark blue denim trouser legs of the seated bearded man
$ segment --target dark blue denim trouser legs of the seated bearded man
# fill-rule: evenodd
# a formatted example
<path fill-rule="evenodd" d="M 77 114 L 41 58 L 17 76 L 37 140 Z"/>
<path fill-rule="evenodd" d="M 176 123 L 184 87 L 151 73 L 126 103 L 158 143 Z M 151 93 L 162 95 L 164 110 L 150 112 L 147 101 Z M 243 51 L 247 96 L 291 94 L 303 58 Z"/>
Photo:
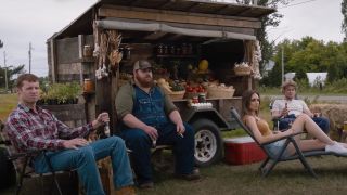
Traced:
<path fill-rule="evenodd" d="M 194 168 L 194 131 L 184 123 L 183 138 L 177 134 L 172 122 L 156 127 L 158 130 L 157 145 L 172 145 L 176 157 L 175 171 L 179 174 L 189 174 Z M 153 182 L 151 167 L 151 138 L 141 129 L 126 129 L 121 131 L 127 146 L 132 150 L 131 159 L 138 183 Z"/>

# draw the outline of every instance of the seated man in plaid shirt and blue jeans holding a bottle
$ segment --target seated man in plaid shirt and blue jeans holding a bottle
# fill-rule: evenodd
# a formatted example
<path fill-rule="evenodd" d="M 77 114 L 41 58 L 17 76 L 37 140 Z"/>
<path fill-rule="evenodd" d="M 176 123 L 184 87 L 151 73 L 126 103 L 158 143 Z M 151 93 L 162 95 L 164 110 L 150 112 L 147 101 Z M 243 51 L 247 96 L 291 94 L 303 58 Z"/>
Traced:
<path fill-rule="evenodd" d="M 132 172 L 124 141 L 118 136 L 89 143 L 85 135 L 108 122 L 102 113 L 95 120 L 79 128 L 69 128 L 49 110 L 36 105 L 39 100 L 38 77 L 24 74 L 17 78 L 18 105 L 8 118 L 8 134 L 18 152 L 47 150 L 54 171 L 77 169 L 87 194 L 104 194 L 95 160 L 111 156 L 113 180 L 118 194 L 134 194 Z M 44 156 L 33 161 L 38 173 L 49 172 Z"/>

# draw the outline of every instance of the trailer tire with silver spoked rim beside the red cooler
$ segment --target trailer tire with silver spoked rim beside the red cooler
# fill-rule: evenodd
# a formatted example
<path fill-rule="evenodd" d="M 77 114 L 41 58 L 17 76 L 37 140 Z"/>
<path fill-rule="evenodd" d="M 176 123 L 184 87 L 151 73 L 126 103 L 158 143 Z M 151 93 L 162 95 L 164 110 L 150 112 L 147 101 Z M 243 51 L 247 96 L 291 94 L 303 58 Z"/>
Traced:
<path fill-rule="evenodd" d="M 195 130 L 195 165 L 206 167 L 222 157 L 222 139 L 219 128 L 208 119 L 198 119 L 192 123 Z"/>

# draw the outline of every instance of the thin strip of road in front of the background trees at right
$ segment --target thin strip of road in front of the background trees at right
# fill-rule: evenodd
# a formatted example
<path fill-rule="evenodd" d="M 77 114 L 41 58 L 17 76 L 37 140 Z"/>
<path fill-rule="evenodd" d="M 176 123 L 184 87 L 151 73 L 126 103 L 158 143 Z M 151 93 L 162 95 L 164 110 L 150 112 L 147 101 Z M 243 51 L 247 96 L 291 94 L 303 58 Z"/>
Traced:
<path fill-rule="evenodd" d="M 283 99 L 283 95 L 265 95 L 269 96 L 271 100 Z M 329 102 L 329 103 L 347 103 L 346 95 L 298 95 L 300 100 L 310 100 L 319 102 Z"/>

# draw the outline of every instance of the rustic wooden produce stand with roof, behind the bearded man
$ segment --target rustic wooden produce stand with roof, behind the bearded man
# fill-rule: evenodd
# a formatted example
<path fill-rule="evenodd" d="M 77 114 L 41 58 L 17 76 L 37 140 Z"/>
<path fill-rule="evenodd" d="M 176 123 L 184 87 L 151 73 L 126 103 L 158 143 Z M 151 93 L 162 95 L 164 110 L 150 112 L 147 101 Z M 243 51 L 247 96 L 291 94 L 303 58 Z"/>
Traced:
<path fill-rule="evenodd" d="M 206 98 L 213 104 L 210 112 L 221 118 L 214 121 L 216 126 L 233 129 L 229 108 L 241 110 L 241 94 L 255 87 L 260 53 L 255 35 L 261 17 L 274 11 L 197 0 L 100 0 L 48 39 L 49 77 L 52 82 L 83 84 L 85 79 L 91 80 L 94 90 L 85 93 L 87 119 L 108 112 L 111 129 L 117 133 L 118 87 L 131 77 L 133 62 L 146 58 L 154 66 L 155 77 L 185 84 L 197 77 L 198 84 L 218 80 L 232 86 L 231 96 Z M 204 73 L 198 67 L 202 60 L 208 62 Z M 235 74 L 235 64 L 243 62 L 249 65 L 252 75 Z M 189 102 L 175 100 L 183 118 L 190 113 Z M 196 116 L 184 119 L 193 122 Z M 217 141 L 220 145 L 220 139 Z"/>

